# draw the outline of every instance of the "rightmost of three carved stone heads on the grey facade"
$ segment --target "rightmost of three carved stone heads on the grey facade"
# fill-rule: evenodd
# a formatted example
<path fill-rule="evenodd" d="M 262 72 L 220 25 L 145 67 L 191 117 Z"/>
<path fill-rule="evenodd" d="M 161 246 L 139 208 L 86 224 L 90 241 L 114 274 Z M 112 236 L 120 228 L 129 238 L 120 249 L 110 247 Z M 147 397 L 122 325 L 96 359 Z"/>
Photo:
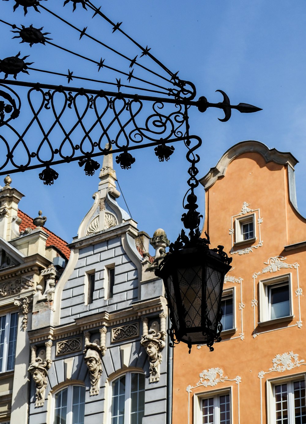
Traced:
<path fill-rule="evenodd" d="M 161 321 L 166 321 L 166 315 L 162 312 L 160 315 Z M 150 363 L 150 378 L 149 382 L 153 383 L 159 381 L 160 377 L 160 364 L 162 360 L 161 351 L 166 346 L 166 332 L 164 331 L 164 323 L 161 322 L 161 331 L 156 332 L 154 329 L 147 330 L 148 319 L 143 318 L 143 335 L 140 340 L 141 346 L 143 346 L 148 355 L 148 361 Z"/>

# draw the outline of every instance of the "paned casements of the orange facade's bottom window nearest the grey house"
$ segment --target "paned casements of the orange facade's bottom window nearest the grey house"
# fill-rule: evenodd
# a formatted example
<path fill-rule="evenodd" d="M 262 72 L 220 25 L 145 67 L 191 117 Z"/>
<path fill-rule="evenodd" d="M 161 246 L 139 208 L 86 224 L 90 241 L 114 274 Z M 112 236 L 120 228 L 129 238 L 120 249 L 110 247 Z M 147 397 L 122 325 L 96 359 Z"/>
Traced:
<path fill-rule="evenodd" d="M 231 424 L 229 393 L 202 399 L 202 424 Z"/>

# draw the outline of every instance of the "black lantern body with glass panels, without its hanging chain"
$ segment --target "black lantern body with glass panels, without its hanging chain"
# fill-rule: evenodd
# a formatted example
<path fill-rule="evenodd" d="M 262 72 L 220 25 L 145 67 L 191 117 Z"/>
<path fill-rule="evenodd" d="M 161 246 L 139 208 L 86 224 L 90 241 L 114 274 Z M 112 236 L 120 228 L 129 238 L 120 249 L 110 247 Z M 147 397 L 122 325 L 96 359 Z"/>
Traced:
<path fill-rule="evenodd" d="M 209 249 L 207 239 L 188 245 L 164 257 L 156 275 L 164 281 L 172 329 L 172 343 L 206 344 L 212 351 L 222 331 L 221 297 L 225 274 L 231 269 L 223 246 Z M 174 331 L 174 333 L 173 333 Z"/>

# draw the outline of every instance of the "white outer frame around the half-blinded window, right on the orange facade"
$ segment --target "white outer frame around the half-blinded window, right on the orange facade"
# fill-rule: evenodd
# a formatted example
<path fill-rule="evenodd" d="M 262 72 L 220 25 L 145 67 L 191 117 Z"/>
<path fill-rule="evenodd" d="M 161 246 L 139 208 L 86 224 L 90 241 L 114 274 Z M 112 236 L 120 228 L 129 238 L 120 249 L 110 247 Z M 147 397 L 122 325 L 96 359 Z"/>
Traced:
<path fill-rule="evenodd" d="M 286 317 L 271 320 L 270 288 L 273 286 L 289 286 L 290 312 Z M 259 324 L 288 321 L 293 317 L 292 275 L 291 273 L 259 281 Z"/>

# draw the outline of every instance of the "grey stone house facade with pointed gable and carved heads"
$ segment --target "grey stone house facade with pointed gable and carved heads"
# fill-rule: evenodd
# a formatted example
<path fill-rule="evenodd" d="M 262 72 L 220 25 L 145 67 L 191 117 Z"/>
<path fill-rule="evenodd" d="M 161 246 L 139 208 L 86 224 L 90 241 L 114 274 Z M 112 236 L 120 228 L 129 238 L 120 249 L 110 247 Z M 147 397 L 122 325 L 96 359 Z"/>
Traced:
<path fill-rule="evenodd" d="M 105 157 L 99 178 L 94 204 L 69 245 L 64 273 L 48 297 L 33 301 L 30 368 L 41 355 L 47 387 L 43 404 L 37 406 L 39 384 L 31 379 L 29 424 L 53 424 L 56 393 L 74 385 L 85 389 L 84 423 L 111 424 L 114 381 L 122 376 L 132 381 L 138 374 L 145 381 L 138 424 L 169 422 L 167 306 L 162 281 L 154 274 L 163 251 L 156 246 L 153 261 L 146 252 L 149 237 L 118 206 L 111 155 Z M 126 415 L 132 401 L 125 396 Z M 130 423 L 126 417 L 124 424 Z"/>

